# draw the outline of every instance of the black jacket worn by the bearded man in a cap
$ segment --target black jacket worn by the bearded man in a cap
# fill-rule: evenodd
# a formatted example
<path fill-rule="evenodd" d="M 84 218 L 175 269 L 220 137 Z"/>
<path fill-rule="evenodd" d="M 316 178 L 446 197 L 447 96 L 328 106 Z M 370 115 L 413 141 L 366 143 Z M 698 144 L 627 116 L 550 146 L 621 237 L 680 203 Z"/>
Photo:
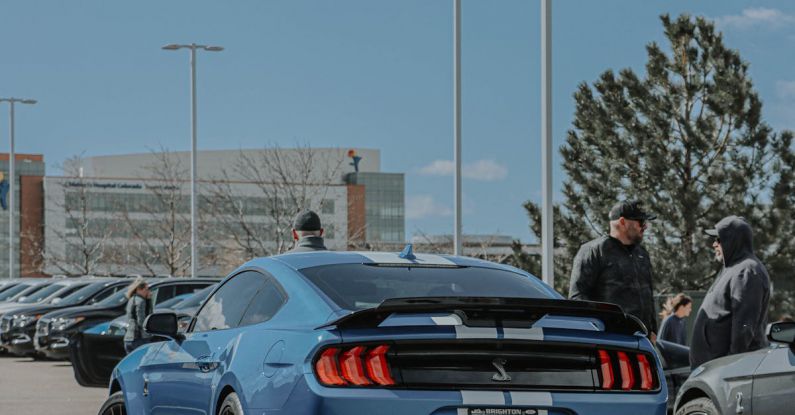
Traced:
<path fill-rule="evenodd" d="M 581 246 L 574 257 L 569 298 L 618 304 L 656 333 L 651 278 L 646 249 L 606 235 Z"/>

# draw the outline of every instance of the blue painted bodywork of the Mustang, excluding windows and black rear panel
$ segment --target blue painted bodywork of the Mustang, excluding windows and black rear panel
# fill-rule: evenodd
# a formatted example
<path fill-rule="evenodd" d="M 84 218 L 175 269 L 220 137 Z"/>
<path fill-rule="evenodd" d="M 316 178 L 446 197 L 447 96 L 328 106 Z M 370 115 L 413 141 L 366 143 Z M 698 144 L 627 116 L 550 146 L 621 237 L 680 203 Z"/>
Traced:
<path fill-rule="evenodd" d="M 390 254 L 398 261 L 396 254 Z M 383 260 L 386 256 L 379 257 Z M 418 260 L 430 256 L 418 254 Z M 482 267 L 530 274 L 472 258 L 440 256 L 455 266 Z M 287 301 L 268 321 L 230 329 L 188 333 L 181 342 L 142 346 L 114 369 L 111 393 L 124 392 L 130 414 L 215 414 L 226 391 L 240 397 L 246 414 L 467 414 L 466 408 L 523 408 L 537 414 L 665 413 L 667 390 L 661 364 L 640 334 L 607 333 L 599 319 L 546 315 L 527 329 L 467 327 L 445 313 L 404 313 L 378 327 L 324 327 L 347 315 L 301 269 L 331 264 L 375 263 L 371 255 L 312 252 L 258 258 L 235 270 L 259 270 L 273 276 Z M 224 282 L 218 285 L 219 290 Z M 549 298 L 562 299 L 538 282 Z M 211 298 L 211 293 L 208 298 Z M 441 322 L 441 323 L 440 323 Z M 322 328 L 321 328 L 322 327 Z M 527 390 L 417 390 L 338 388 L 321 385 L 313 358 L 321 348 L 359 341 L 444 340 L 460 338 L 601 345 L 655 356 L 660 388 L 653 392 L 557 392 Z"/>

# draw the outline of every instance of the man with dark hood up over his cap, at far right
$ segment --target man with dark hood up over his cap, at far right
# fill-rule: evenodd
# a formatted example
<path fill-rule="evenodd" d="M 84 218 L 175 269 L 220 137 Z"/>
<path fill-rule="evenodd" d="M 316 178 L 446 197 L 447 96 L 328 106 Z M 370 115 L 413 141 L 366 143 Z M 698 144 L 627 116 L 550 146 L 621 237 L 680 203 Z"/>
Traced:
<path fill-rule="evenodd" d="M 712 359 L 767 346 L 770 277 L 754 255 L 751 226 L 741 217 L 727 216 L 705 232 L 715 238 L 712 247 L 723 270 L 707 291 L 693 324 L 693 369 Z"/>

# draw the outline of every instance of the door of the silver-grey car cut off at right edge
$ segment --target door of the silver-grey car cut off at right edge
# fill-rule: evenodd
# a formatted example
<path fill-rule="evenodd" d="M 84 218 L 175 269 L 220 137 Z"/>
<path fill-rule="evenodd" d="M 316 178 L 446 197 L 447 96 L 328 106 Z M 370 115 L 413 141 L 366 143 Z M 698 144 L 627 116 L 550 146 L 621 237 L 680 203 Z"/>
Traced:
<path fill-rule="evenodd" d="M 795 354 L 792 346 L 770 349 L 754 373 L 753 415 L 792 412 L 795 396 Z"/>

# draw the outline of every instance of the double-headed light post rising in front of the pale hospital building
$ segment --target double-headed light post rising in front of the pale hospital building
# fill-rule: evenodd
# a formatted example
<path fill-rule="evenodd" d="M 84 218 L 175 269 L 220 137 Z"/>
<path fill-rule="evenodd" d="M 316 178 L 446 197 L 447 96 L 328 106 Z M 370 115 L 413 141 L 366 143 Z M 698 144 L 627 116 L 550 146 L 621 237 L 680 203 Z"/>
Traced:
<path fill-rule="evenodd" d="M 224 48 L 220 46 L 169 44 L 163 46 L 163 50 L 190 50 L 190 119 L 191 119 L 191 147 L 190 147 L 190 275 L 196 276 L 199 256 L 196 254 L 196 50 L 201 49 L 207 52 L 220 52 Z"/>

